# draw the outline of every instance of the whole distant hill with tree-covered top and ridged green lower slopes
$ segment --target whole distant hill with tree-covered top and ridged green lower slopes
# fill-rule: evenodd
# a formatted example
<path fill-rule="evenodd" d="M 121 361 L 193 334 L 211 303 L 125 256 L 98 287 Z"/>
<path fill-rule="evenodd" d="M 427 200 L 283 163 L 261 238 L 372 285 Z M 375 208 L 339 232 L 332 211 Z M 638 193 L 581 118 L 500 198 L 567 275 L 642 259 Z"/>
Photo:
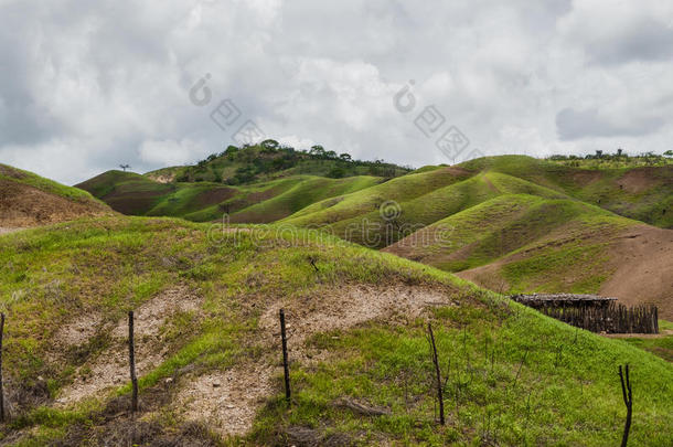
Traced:
<path fill-rule="evenodd" d="M 233 222 L 268 223 L 409 171 L 381 160 L 352 160 L 320 146 L 296 151 L 266 140 L 245 148 L 229 146 L 195 166 L 143 175 L 108 171 L 76 187 L 125 214 L 204 222 L 228 213 Z"/>

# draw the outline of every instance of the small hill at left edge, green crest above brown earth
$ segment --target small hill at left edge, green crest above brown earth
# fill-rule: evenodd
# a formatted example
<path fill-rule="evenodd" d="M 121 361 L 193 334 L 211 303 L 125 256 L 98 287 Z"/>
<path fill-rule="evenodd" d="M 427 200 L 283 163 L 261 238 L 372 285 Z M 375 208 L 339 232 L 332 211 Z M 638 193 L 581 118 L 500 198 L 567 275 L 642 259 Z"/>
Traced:
<path fill-rule="evenodd" d="M 0 164 L 0 232 L 110 213 L 86 191 Z"/>

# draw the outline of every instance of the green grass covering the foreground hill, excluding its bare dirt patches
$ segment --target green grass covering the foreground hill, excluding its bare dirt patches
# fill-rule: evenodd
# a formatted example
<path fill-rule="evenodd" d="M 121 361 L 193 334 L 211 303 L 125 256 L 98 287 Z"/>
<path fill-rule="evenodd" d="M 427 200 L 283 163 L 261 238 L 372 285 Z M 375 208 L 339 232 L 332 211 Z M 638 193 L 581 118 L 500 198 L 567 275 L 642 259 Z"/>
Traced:
<path fill-rule="evenodd" d="M 673 440 L 670 363 L 428 266 L 314 231 L 250 228 L 221 234 L 209 224 L 174 219 L 104 217 L 0 236 L 6 376 L 26 387 L 45 377 L 57 396 L 79 366 L 105 352 L 107 331 L 126 310 L 177 284 L 203 297 L 201 311 L 164 321 L 168 355 L 140 379 L 142 395 L 160 392 L 164 377 L 188 365 L 206 372 L 276 361 L 276 350 L 260 344 L 257 333 L 259 312 L 278 299 L 329 297 L 345 285 L 412 285 L 442 290 L 455 302 L 431 315 L 442 371 L 449 371 L 446 427 L 432 421 L 426 321 L 412 318 L 316 334 L 310 345 L 325 358 L 292 363 L 292 408 L 282 404 L 275 382 L 276 394 L 254 432 L 231 443 L 270 443 L 290 426 L 308 426 L 371 445 L 480 445 L 485 438 L 501 445 L 613 445 L 624 413 L 616 368 L 626 362 L 632 365 L 637 402 L 630 443 Z M 60 326 L 90 315 L 108 324 L 87 344 L 68 348 L 55 339 Z M 58 361 L 56 353 L 63 355 Z M 49 444 L 73 429 L 94 436 L 106 424 L 100 408 L 128 391 L 125 384 L 68 409 L 24 408 L 3 430 L 28 430 L 22 445 Z M 334 408 L 332 401 L 342 396 L 386 406 L 392 414 L 361 417 Z M 165 430 L 181 424 L 174 407 L 157 411 Z"/>

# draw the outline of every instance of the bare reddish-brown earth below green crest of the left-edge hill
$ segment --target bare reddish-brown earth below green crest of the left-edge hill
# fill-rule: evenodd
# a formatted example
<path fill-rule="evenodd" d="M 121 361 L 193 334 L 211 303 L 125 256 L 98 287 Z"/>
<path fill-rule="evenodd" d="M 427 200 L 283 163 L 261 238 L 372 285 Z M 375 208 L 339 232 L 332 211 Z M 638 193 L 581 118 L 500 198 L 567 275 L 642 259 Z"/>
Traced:
<path fill-rule="evenodd" d="M 0 179 L 0 227 L 3 228 L 45 225 L 109 213 L 105 204 L 94 200 L 68 200 L 28 184 Z"/>

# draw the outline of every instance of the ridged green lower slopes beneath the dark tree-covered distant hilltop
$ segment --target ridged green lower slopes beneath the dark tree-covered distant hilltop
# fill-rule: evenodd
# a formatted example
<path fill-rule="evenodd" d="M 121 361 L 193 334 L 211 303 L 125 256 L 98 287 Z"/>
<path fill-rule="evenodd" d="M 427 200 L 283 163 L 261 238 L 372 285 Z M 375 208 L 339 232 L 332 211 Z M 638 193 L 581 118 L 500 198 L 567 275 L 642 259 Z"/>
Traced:
<path fill-rule="evenodd" d="M 130 215 L 184 217 L 205 222 L 229 214 L 232 222 L 267 223 L 334 195 L 383 181 L 377 177 L 327 179 L 292 175 L 244 185 L 213 182 L 162 183 L 133 172 L 108 171 L 77 184 Z"/>

